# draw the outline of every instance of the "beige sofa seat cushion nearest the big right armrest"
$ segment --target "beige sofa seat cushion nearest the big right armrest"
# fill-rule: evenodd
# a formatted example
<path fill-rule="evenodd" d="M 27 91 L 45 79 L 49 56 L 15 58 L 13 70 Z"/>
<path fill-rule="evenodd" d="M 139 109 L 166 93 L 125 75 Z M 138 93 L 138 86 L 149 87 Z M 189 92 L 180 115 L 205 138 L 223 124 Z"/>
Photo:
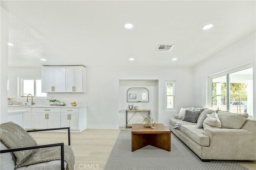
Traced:
<path fill-rule="evenodd" d="M 196 125 L 181 125 L 180 131 L 194 140 L 197 144 L 201 146 L 209 146 L 209 137 L 204 135 L 203 128 L 196 128 Z"/>

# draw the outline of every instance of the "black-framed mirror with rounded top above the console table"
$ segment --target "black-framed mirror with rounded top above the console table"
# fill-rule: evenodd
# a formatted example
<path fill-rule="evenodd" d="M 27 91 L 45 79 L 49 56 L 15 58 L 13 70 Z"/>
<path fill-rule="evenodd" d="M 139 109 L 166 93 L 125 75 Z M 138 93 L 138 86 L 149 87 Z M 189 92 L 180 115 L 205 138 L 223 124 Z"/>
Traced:
<path fill-rule="evenodd" d="M 127 90 L 127 102 L 148 102 L 148 89 L 132 87 Z"/>

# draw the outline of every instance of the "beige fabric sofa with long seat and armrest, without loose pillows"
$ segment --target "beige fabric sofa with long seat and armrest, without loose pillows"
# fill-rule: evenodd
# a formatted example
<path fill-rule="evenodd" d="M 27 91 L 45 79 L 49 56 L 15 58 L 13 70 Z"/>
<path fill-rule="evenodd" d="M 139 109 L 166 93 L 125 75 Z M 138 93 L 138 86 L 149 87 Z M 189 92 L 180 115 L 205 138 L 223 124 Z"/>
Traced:
<path fill-rule="evenodd" d="M 180 123 L 179 115 L 170 119 L 170 130 L 202 161 L 256 160 L 256 121 L 247 119 L 240 129 L 196 128 L 196 123 Z"/>

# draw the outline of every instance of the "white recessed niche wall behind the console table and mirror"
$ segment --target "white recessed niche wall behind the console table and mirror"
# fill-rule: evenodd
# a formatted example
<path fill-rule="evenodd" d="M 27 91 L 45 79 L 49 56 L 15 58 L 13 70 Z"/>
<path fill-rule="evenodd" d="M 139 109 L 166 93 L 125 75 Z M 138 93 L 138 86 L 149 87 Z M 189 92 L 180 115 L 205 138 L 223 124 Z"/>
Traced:
<path fill-rule="evenodd" d="M 148 102 L 127 102 L 127 90 L 132 87 L 145 87 L 148 89 Z M 119 81 L 119 126 L 125 127 L 125 109 L 128 105 L 138 106 L 139 109 L 150 109 L 150 116 L 158 123 L 158 80 L 120 80 Z M 134 112 L 128 112 L 128 120 Z M 148 112 L 142 112 L 144 116 Z M 144 117 L 136 113 L 128 124 L 142 123 Z"/>

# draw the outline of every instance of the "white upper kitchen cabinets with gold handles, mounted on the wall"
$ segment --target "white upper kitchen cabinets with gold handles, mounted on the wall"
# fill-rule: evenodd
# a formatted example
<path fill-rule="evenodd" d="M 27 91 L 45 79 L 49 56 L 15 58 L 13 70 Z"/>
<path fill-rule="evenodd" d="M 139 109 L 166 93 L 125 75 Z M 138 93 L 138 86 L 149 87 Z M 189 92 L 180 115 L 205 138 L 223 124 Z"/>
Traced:
<path fill-rule="evenodd" d="M 42 92 L 86 93 L 86 68 L 56 66 L 42 68 Z"/>

